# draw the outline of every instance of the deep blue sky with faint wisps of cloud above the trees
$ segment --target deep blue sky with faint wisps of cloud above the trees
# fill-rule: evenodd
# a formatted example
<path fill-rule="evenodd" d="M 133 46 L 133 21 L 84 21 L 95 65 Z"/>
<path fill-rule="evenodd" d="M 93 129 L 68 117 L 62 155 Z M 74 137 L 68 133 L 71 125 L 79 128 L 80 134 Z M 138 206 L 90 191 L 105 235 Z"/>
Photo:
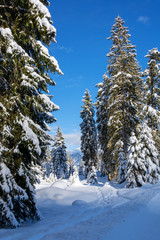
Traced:
<path fill-rule="evenodd" d="M 80 147 L 80 111 L 85 89 L 96 101 L 95 85 L 106 72 L 106 54 L 111 47 L 110 30 L 120 15 L 136 45 L 137 59 L 144 69 L 148 50 L 160 50 L 160 0 L 50 0 L 57 43 L 49 47 L 64 76 L 52 75 L 56 86 L 50 88 L 53 102 L 60 106 L 54 112 L 57 122 L 51 135 L 60 126 L 68 149 Z"/>

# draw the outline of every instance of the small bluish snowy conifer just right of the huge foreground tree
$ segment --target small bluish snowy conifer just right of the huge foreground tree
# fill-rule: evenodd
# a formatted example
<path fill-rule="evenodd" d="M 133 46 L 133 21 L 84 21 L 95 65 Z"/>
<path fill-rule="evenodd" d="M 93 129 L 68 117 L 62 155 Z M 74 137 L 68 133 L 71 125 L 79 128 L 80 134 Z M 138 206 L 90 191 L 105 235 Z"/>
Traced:
<path fill-rule="evenodd" d="M 54 136 L 54 144 L 51 152 L 51 166 L 52 173 L 58 179 L 68 177 L 66 145 L 60 127 L 58 127 Z"/>

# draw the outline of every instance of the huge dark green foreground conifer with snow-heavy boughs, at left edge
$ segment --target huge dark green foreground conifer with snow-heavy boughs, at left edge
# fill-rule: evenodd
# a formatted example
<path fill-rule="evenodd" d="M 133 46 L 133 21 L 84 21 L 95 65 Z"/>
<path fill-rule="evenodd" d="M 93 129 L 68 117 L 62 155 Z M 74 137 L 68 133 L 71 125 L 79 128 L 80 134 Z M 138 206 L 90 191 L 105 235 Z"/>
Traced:
<path fill-rule="evenodd" d="M 56 35 L 48 4 L 4 0 L 0 5 L 0 176 L 9 174 L 11 182 L 0 178 L 1 226 L 39 219 L 30 168 L 44 156 L 51 139 L 47 124 L 55 121 L 51 112 L 58 109 L 45 94 L 48 84 L 55 85 L 47 72 L 61 73 L 43 45 Z M 15 196 L 11 185 L 16 186 Z M 15 198 L 25 200 L 17 207 Z"/>

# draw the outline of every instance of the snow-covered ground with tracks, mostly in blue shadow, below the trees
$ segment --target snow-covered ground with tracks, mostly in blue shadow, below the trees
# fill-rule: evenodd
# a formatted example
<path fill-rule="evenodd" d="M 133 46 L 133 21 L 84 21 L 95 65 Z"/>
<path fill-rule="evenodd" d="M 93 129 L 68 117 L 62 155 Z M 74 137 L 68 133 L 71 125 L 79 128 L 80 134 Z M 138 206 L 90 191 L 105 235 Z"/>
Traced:
<path fill-rule="evenodd" d="M 126 189 L 102 180 L 42 181 L 36 186 L 42 220 L 0 229 L 0 240 L 160 240 L 160 183 Z"/>

